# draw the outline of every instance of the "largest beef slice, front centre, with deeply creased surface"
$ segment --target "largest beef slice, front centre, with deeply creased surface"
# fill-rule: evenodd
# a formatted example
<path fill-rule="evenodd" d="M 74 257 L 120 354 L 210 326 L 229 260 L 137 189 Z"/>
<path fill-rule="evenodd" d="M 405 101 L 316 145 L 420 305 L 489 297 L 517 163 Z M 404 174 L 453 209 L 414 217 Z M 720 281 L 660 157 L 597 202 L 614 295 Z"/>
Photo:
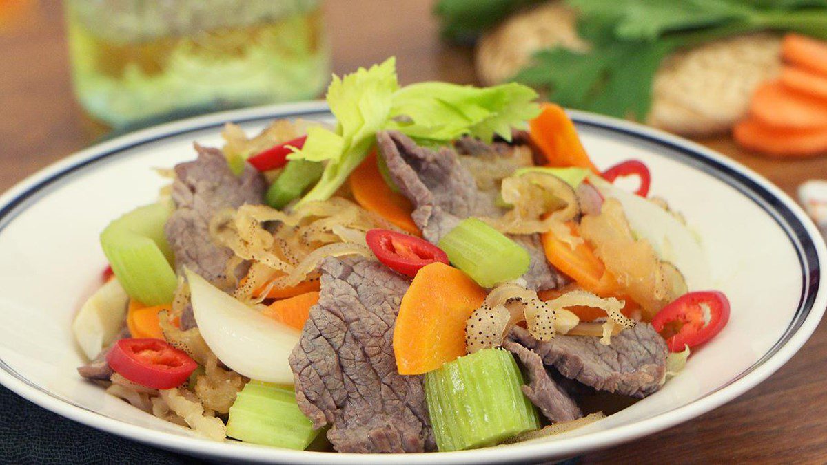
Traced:
<path fill-rule="evenodd" d="M 322 288 L 290 354 L 296 401 L 339 452 L 436 447 L 423 377 L 396 370 L 394 322 L 408 280 L 364 258 L 327 258 Z"/>

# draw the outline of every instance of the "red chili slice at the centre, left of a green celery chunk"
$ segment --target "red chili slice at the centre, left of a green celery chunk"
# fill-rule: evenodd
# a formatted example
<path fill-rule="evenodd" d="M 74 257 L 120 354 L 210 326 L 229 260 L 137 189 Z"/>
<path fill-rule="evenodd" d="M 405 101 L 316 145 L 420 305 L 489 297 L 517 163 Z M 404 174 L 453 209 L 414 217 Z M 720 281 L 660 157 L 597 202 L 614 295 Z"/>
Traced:
<path fill-rule="evenodd" d="M 419 268 L 434 263 L 448 264 L 448 256 L 427 240 L 389 230 L 369 230 L 367 245 L 380 262 L 407 276 L 415 276 Z"/>

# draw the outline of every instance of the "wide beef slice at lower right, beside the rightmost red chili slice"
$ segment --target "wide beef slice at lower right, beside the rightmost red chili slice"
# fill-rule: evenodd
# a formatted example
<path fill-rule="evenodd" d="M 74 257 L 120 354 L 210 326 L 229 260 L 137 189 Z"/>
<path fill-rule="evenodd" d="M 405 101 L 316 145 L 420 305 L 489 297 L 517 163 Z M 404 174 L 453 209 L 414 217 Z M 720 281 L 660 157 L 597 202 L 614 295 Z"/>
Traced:
<path fill-rule="evenodd" d="M 666 373 L 667 344 L 648 323 L 612 336 L 609 345 L 592 336 L 557 335 L 542 342 L 519 326 L 510 339 L 538 353 L 563 376 L 600 391 L 645 397 L 661 387 Z"/>

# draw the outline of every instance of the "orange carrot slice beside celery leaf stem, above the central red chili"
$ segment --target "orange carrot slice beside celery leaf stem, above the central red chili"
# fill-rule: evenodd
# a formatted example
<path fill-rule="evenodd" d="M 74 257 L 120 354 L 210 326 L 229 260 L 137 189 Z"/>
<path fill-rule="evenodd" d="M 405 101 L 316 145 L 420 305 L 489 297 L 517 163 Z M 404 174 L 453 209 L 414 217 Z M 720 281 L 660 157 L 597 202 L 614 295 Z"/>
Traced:
<path fill-rule="evenodd" d="M 419 228 L 411 213 L 414 206 L 407 197 L 394 192 L 385 183 L 376 164 L 376 154 L 371 153 L 354 171 L 350 178 L 351 192 L 356 202 L 373 211 L 405 232 L 420 236 Z"/>

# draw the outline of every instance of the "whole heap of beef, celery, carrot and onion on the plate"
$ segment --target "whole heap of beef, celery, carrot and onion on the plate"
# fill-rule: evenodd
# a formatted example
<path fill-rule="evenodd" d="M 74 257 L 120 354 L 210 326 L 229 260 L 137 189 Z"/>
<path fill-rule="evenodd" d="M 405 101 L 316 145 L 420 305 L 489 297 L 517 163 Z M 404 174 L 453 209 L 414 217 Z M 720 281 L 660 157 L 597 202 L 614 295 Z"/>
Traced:
<path fill-rule="evenodd" d="M 333 79 L 333 126 L 226 126 L 103 230 L 79 374 L 207 439 L 342 453 L 555 434 L 605 416 L 584 392 L 658 391 L 729 302 L 659 173 L 598 167 L 536 97 L 400 87 L 388 59 Z"/>

